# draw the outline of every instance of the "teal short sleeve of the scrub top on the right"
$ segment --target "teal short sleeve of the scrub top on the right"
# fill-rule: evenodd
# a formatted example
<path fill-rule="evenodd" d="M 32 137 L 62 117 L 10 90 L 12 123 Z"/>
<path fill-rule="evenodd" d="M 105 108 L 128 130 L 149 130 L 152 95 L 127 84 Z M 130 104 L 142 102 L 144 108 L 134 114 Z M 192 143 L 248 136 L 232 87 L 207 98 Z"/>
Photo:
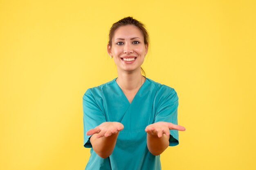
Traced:
<path fill-rule="evenodd" d="M 155 114 L 155 122 L 171 122 L 178 124 L 177 109 L 178 109 L 178 96 L 174 89 L 168 90 L 162 94 L 165 99 L 159 103 Z M 179 135 L 177 130 L 170 130 L 169 146 L 176 146 L 179 144 Z"/>

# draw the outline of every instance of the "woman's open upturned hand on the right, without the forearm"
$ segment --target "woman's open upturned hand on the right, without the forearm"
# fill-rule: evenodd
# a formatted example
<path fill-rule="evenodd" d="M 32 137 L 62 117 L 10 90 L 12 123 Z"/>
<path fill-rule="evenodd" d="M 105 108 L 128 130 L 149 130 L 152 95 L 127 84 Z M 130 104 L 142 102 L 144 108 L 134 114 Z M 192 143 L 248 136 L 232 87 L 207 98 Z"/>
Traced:
<path fill-rule="evenodd" d="M 170 122 L 156 122 L 153 124 L 150 124 L 146 126 L 146 133 L 150 135 L 157 135 L 158 137 L 162 137 L 163 134 L 166 134 L 166 136 L 170 135 L 169 130 L 175 129 L 178 131 L 185 131 L 185 127 L 173 124 Z"/>

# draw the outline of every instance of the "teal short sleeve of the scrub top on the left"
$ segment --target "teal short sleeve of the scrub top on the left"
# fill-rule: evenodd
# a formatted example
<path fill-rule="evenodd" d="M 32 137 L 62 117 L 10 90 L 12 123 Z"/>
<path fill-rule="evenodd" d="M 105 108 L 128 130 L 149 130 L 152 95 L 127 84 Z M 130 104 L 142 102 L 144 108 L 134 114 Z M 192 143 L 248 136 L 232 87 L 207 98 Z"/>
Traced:
<path fill-rule="evenodd" d="M 88 89 L 83 95 L 83 146 L 85 148 L 92 148 L 90 143 L 92 135 L 88 136 L 86 132 L 103 122 L 106 122 L 106 116 L 97 104 L 92 92 Z"/>

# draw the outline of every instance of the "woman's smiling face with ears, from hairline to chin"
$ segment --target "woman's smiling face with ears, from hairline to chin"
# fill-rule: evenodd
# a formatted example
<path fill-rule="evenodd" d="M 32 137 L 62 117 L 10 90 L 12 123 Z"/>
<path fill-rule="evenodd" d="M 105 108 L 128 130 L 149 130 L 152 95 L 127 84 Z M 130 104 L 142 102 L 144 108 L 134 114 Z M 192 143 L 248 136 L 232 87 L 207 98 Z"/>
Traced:
<path fill-rule="evenodd" d="M 108 53 L 113 56 L 117 71 L 140 71 L 148 45 L 144 44 L 144 37 L 136 26 L 120 26 L 112 38 L 112 46 L 108 46 Z"/>

